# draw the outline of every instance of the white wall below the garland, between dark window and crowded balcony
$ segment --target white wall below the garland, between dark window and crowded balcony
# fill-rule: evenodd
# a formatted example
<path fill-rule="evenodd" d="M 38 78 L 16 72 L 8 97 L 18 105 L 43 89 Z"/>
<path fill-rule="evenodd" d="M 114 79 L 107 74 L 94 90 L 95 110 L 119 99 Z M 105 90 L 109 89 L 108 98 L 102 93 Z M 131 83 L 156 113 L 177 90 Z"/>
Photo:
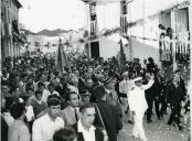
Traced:
<path fill-rule="evenodd" d="M 148 57 L 153 57 L 154 62 L 160 66 L 159 41 L 152 41 L 152 39 L 159 39 L 159 17 L 148 20 L 145 24 L 131 28 L 131 34 L 129 33 L 129 35 L 136 36 L 130 41 L 132 48 L 131 59 L 140 58 L 142 62 Z M 140 37 L 147 37 L 148 40 L 141 40 Z"/>

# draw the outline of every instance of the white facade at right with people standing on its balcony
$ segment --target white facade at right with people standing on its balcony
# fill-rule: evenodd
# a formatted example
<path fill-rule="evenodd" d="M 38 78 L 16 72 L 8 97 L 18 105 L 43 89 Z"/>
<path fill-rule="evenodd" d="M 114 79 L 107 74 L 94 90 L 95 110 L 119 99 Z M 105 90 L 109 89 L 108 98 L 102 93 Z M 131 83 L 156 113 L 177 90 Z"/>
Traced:
<path fill-rule="evenodd" d="M 162 6 L 162 7 L 159 7 Z M 188 74 L 190 58 L 189 1 L 135 0 L 128 6 L 131 57 L 150 57 L 160 68 L 172 72 L 183 66 Z"/>

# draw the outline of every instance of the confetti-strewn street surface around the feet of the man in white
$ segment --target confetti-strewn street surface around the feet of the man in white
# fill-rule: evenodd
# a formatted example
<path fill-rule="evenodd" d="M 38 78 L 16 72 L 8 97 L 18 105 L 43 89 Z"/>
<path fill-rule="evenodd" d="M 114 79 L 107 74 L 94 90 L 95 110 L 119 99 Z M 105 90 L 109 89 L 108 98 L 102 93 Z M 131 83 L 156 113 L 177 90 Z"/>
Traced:
<path fill-rule="evenodd" d="M 113 87 L 114 83 L 110 83 L 108 88 L 113 93 L 113 104 L 117 101 L 116 93 Z M 179 131 L 178 127 L 169 127 L 167 124 L 170 116 L 170 110 L 168 109 L 168 115 L 163 117 L 162 120 L 158 120 L 156 112 L 153 111 L 151 123 L 147 123 L 146 116 L 143 118 L 143 129 L 148 141 L 186 141 L 190 132 L 190 123 L 184 123 L 184 119 L 181 118 L 183 124 L 183 131 Z M 128 119 L 125 117 L 122 119 L 124 127 L 118 134 L 118 141 L 140 141 L 131 137 L 132 124 L 128 123 Z"/>

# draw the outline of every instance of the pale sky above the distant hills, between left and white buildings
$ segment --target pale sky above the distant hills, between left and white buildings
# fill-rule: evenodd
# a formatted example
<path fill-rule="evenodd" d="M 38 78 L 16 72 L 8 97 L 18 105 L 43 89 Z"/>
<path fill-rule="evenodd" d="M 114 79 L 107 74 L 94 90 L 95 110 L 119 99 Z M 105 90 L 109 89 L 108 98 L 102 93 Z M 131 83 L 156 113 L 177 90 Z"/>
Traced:
<path fill-rule="evenodd" d="M 32 32 L 41 30 L 77 30 L 85 25 L 84 2 L 81 0 L 19 0 L 23 8 L 19 20 Z"/>

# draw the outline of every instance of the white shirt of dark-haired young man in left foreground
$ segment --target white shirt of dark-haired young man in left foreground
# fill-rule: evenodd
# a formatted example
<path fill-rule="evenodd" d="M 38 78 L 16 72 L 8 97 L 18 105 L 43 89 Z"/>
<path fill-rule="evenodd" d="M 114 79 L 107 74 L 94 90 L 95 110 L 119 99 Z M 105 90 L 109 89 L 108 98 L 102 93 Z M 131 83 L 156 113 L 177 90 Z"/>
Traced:
<path fill-rule="evenodd" d="M 54 132 L 63 128 L 62 118 L 57 117 L 52 120 L 46 113 L 33 122 L 32 141 L 53 141 Z"/>

